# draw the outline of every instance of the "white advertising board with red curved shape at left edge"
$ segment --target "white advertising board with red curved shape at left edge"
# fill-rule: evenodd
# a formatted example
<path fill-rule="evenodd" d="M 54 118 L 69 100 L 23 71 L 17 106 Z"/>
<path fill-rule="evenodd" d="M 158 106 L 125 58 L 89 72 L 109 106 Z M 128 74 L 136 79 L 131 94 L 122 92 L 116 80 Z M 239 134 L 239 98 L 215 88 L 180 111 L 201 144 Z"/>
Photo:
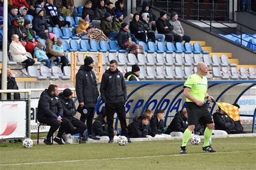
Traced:
<path fill-rule="evenodd" d="M 0 102 L 0 139 L 26 136 L 26 102 Z"/>

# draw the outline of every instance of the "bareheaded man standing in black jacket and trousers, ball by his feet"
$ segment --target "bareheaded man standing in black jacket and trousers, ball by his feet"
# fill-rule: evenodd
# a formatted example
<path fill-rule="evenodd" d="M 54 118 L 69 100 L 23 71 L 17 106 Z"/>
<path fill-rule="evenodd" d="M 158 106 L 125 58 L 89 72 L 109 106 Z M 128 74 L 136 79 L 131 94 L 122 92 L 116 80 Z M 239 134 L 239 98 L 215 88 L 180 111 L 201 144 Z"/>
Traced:
<path fill-rule="evenodd" d="M 122 128 L 122 135 L 126 136 L 128 142 L 131 140 L 128 138 L 126 114 L 125 114 L 125 102 L 127 101 L 127 91 L 125 85 L 125 79 L 122 73 L 117 69 L 117 61 L 111 60 L 110 67 L 102 76 L 102 82 L 100 84 L 100 94 L 102 101 L 105 103 L 107 112 L 107 130 L 109 131 L 109 143 L 113 143 L 113 122 L 114 112 L 117 112 L 118 119 Z"/>

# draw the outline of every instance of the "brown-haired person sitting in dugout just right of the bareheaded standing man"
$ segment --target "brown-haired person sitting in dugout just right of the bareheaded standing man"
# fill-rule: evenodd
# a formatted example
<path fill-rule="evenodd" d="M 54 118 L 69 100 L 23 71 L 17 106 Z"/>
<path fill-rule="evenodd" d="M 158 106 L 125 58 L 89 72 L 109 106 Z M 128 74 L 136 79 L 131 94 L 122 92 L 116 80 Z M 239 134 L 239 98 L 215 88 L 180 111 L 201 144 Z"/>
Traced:
<path fill-rule="evenodd" d="M 146 138 L 149 133 L 150 117 L 147 115 L 136 116 L 128 126 L 129 138 Z"/>

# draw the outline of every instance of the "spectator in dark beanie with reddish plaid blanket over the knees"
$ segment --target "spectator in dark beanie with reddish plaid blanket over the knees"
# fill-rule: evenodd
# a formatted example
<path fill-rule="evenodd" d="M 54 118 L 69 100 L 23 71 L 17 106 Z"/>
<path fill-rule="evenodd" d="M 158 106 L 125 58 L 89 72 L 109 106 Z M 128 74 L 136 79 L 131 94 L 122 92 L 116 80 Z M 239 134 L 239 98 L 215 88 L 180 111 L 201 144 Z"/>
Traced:
<path fill-rule="evenodd" d="M 121 24 L 122 28 L 117 34 L 117 43 L 121 49 L 130 49 L 131 53 L 144 54 L 143 46 L 132 43 L 131 35 L 129 33 L 129 25 L 127 23 Z"/>

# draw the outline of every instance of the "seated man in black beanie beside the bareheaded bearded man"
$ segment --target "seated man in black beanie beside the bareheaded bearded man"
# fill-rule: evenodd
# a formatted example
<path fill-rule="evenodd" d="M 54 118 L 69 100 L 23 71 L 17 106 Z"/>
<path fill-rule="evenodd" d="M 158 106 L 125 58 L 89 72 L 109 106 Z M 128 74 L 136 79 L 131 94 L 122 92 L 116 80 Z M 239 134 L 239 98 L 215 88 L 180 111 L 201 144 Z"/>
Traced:
<path fill-rule="evenodd" d="M 70 89 L 65 89 L 63 90 L 63 93 L 58 95 L 60 102 L 62 103 L 63 116 L 69 119 L 68 128 L 62 136 L 66 144 L 69 143 L 69 141 L 66 140 L 67 137 L 77 133 L 84 133 L 84 131 L 87 129 L 86 125 L 82 121 L 79 121 L 74 117 L 77 111 L 75 103 L 72 100 L 72 94 L 73 93 Z M 69 133 L 71 135 L 69 135 Z M 81 138 L 81 140 L 86 139 Z"/>

